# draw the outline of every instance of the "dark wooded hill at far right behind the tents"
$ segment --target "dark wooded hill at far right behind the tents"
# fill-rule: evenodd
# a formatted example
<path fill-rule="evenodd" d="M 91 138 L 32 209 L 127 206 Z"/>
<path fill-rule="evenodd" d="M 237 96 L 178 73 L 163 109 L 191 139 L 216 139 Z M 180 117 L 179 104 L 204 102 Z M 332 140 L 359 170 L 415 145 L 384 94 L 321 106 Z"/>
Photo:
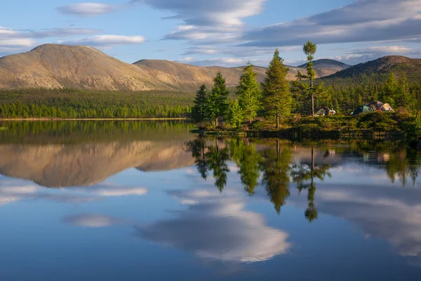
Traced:
<path fill-rule="evenodd" d="M 323 79 L 360 79 L 363 76 L 385 77 L 389 73 L 395 73 L 400 76 L 405 72 L 410 81 L 419 81 L 421 79 L 421 59 L 406 58 L 400 55 L 389 55 L 377 60 L 371 60 L 367 63 L 360 63 L 336 72 Z"/>

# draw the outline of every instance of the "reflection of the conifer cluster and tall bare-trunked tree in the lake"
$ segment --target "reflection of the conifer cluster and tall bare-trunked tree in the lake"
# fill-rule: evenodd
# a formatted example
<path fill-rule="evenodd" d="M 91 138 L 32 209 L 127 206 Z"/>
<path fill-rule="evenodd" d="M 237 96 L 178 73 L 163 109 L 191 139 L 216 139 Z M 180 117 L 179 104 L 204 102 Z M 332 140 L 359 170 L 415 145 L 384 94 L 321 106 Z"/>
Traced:
<path fill-rule="evenodd" d="M 209 171 L 213 171 L 215 186 L 220 192 L 227 185 L 229 157 L 239 168 L 241 183 L 250 196 L 255 194 L 255 188 L 259 184 L 261 175 L 261 184 L 278 214 L 290 196 L 290 181 L 292 179 L 300 192 L 303 189 L 308 190 L 309 207 L 305 211 L 305 217 L 309 221 L 314 221 L 317 218 L 317 209 L 314 206 L 316 192 L 314 178 L 323 181 L 326 175 L 330 176 L 328 172 L 330 165 L 314 162 L 313 147 L 309 162 L 302 160 L 295 163 L 293 150 L 289 145 L 282 145 L 279 140 L 272 142 L 272 144 L 269 141 L 265 145 L 260 145 L 257 150 L 256 145 L 249 140 L 232 138 L 218 141 L 215 138 L 213 141 L 209 141 L 199 137 L 188 142 L 186 146 L 187 151 L 192 152 L 197 170 L 203 179 L 208 177 Z"/>

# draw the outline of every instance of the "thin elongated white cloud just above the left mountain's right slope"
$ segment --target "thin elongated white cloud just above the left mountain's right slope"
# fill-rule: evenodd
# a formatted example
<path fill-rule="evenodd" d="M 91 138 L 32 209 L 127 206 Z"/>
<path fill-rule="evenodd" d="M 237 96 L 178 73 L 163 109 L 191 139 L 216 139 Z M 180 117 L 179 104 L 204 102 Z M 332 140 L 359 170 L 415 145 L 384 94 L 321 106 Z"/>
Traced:
<path fill-rule="evenodd" d="M 125 36 L 125 35 L 95 35 L 93 37 L 86 37 L 75 39 L 71 41 L 59 41 L 60 44 L 70 45 L 86 45 L 95 47 L 113 47 L 120 45 L 133 45 L 144 43 L 145 37 L 142 36 Z"/>

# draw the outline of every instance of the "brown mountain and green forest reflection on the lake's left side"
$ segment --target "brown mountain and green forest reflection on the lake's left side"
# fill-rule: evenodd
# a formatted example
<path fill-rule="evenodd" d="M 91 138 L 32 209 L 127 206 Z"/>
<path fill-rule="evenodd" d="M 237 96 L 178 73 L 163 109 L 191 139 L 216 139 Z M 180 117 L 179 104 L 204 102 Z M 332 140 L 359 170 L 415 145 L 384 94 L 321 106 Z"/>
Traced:
<path fill-rule="evenodd" d="M 164 171 L 193 164 L 182 149 L 192 136 L 188 127 L 178 123 L 7 125 L 0 132 L 0 173 L 46 187 L 95 185 L 132 167 Z M 15 140 L 16 135 L 20 138 Z"/>

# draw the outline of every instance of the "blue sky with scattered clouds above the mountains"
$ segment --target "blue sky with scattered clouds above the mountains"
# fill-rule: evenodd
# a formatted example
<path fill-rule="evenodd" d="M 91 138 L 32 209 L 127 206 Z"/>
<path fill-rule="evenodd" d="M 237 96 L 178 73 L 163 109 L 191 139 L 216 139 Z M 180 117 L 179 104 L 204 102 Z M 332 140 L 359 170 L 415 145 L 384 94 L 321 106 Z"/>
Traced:
<path fill-rule="evenodd" d="M 0 11 L 0 56 L 45 43 L 93 46 L 126 63 L 266 66 L 316 58 L 356 64 L 383 55 L 421 57 L 421 0 L 8 1 Z"/>

